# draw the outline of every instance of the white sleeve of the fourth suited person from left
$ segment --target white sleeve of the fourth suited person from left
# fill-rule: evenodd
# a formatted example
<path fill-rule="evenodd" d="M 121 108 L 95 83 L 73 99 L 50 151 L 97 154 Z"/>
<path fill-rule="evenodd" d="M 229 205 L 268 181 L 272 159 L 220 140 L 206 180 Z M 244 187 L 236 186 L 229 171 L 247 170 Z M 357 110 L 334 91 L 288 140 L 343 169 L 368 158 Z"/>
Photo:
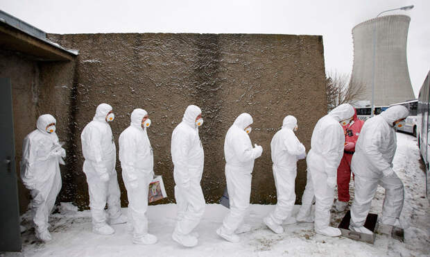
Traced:
<path fill-rule="evenodd" d="M 176 134 L 172 139 L 172 159 L 175 161 L 175 179 L 178 183 L 187 184 L 189 182 L 188 156 L 190 151 L 190 142 L 187 135 Z"/>

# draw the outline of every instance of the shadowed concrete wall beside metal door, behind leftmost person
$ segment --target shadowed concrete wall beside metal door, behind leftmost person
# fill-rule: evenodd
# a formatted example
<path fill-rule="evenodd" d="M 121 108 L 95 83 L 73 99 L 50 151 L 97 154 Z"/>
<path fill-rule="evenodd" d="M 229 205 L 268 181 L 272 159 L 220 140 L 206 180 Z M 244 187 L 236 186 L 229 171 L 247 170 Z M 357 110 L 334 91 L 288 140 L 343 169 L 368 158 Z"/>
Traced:
<path fill-rule="evenodd" d="M 19 53 L 0 50 L 0 77 L 10 78 L 12 83 L 15 170 L 18 178 L 22 142 L 28 133 L 35 130 L 37 117 L 45 113 L 53 115 L 57 119 L 58 137 L 60 140 L 67 138 L 73 75 L 73 62 L 40 62 Z M 62 166 L 61 170 L 64 181 L 68 174 L 67 167 Z M 18 194 L 23 213 L 30 201 L 30 194 L 21 182 L 18 183 Z"/>

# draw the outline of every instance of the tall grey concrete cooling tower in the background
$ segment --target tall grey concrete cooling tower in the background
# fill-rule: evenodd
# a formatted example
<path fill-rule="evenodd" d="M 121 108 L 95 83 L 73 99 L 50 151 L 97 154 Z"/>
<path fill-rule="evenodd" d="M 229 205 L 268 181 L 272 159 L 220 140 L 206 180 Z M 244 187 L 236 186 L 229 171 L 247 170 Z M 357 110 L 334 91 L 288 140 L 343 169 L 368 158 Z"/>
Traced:
<path fill-rule="evenodd" d="M 375 106 L 388 106 L 415 99 L 406 61 L 406 42 L 411 18 L 387 15 L 370 19 L 352 28 L 354 64 L 351 83 L 361 83 L 358 100 L 372 100 L 372 58 L 375 29 Z"/>

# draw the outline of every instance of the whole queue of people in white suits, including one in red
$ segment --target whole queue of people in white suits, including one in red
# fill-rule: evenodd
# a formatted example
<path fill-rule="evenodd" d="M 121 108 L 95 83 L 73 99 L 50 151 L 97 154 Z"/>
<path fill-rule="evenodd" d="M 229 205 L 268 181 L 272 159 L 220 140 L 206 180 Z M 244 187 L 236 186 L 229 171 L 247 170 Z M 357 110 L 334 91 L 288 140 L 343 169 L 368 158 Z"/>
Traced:
<path fill-rule="evenodd" d="M 277 204 L 264 217 L 264 224 L 275 233 L 284 233 L 282 223 L 291 218 L 293 222 L 314 222 L 316 233 L 341 235 L 339 229 L 329 226 L 330 209 L 336 184 L 338 201 L 335 208 L 342 211 L 347 207 L 352 171 L 354 202 L 350 230 L 372 233 L 363 224 L 377 185 L 386 189 L 380 222 L 399 226 L 404 188 L 393 171 L 395 127 L 402 126 L 407 116 L 407 108 L 393 106 L 363 124 L 357 119 L 354 108 L 344 103 L 318 120 L 308 154 L 295 135 L 298 120 L 291 115 L 286 116 L 281 130 L 275 133 L 270 143 Z M 153 149 L 147 134 L 151 124 L 148 113 L 140 108 L 133 110 L 130 126 L 119 137 L 119 160 L 128 192 L 128 217 L 121 214 L 121 192 L 115 170 L 117 151 L 109 124 L 113 120 L 112 106 L 101 103 L 96 108 L 94 119 L 81 134 L 85 158 L 83 172 L 87 177 L 92 230 L 101 235 L 110 235 L 114 233 L 110 225 L 128 223 L 133 235 L 132 242 L 155 244 L 157 237 L 148 233 L 146 218 L 148 185 L 154 176 Z M 31 208 L 35 213 L 33 221 L 36 237 L 43 241 L 51 240 L 48 218 L 60 192 L 59 165 L 65 164 L 62 158 L 66 156 L 55 133 L 55 122 L 51 115 L 42 115 L 37 119 L 37 129 L 24 139 L 21 163 L 22 181 L 31 190 L 33 197 Z M 263 151 L 258 144 L 252 146 L 249 137 L 252 122 L 251 115 L 242 113 L 225 135 L 225 177 L 230 212 L 216 233 L 230 242 L 239 242 L 238 234 L 251 229 L 244 218 L 250 206 L 254 162 Z M 205 212 L 205 198 L 200 186 L 204 151 L 198 133 L 202 124 L 200 108 L 188 106 L 171 138 L 174 190 L 178 206 L 172 239 L 184 247 L 198 244 L 198 233 L 193 230 Z M 302 196 L 302 206 L 296 217 L 291 217 L 295 204 L 297 161 L 304 158 L 307 161 L 307 185 Z M 313 201 L 316 203 L 314 215 L 311 214 Z"/>

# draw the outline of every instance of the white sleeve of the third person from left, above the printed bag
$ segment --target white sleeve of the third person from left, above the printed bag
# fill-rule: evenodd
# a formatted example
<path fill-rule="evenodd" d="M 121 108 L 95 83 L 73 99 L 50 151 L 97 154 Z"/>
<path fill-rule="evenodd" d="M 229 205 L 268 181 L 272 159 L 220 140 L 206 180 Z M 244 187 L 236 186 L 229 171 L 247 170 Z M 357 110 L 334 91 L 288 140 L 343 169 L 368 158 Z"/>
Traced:
<path fill-rule="evenodd" d="M 119 145 L 121 151 L 121 166 L 123 169 L 126 169 L 126 176 L 130 182 L 137 179 L 135 163 L 139 160 L 137 160 L 136 143 L 134 137 L 126 135 L 121 138 L 121 144 Z"/>

